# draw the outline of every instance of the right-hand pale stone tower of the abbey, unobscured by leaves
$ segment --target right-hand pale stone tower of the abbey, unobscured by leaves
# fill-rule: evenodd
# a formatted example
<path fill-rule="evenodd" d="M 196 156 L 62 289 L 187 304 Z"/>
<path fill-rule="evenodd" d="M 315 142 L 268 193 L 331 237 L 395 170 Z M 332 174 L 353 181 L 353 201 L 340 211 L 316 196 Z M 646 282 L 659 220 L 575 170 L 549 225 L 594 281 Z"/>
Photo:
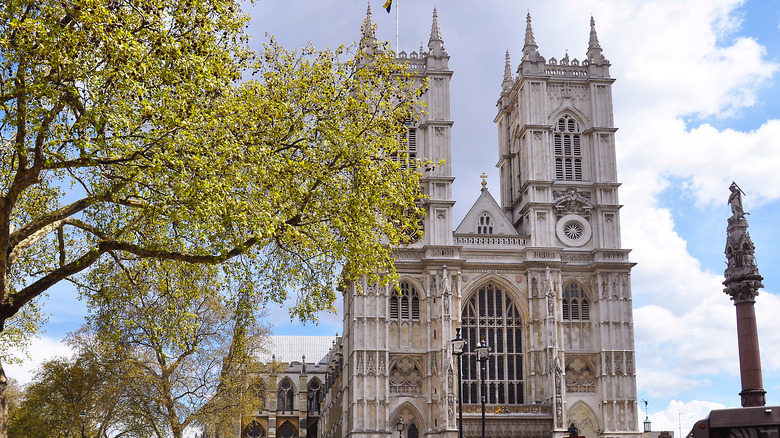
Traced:
<path fill-rule="evenodd" d="M 550 338 L 527 346 L 527 378 L 549 375 L 545 360 L 560 361 L 565 376 L 559 385 L 556 375 L 554 394 L 543 382 L 531 385 L 529 401 L 552 398 L 556 429 L 630 434 L 637 428 L 632 264 L 620 243 L 614 79 L 592 17 L 587 47 L 582 60 L 566 53 L 547 61 L 528 14 L 516 77 L 507 52 L 495 118 L 501 209 L 528 236 L 528 330 Z M 535 282 L 553 289 L 552 335 Z"/>

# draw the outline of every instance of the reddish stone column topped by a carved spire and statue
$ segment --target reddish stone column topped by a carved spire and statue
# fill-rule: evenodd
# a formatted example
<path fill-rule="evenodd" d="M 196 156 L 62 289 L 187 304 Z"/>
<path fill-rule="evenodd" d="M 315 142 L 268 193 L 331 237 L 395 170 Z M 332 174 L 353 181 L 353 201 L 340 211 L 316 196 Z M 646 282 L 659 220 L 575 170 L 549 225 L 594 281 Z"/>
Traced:
<path fill-rule="evenodd" d="M 732 216 L 726 227 L 726 271 L 723 290 L 737 309 L 737 342 L 739 371 L 742 380 L 742 406 L 766 405 L 766 391 L 761 376 L 761 354 L 758 349 L 755 302 L 764 278 L 758 273 L 755 246 L 748 234 L 747 214 L 742 208 L 742 190 L 731 183 L 729 204 Z"/>

